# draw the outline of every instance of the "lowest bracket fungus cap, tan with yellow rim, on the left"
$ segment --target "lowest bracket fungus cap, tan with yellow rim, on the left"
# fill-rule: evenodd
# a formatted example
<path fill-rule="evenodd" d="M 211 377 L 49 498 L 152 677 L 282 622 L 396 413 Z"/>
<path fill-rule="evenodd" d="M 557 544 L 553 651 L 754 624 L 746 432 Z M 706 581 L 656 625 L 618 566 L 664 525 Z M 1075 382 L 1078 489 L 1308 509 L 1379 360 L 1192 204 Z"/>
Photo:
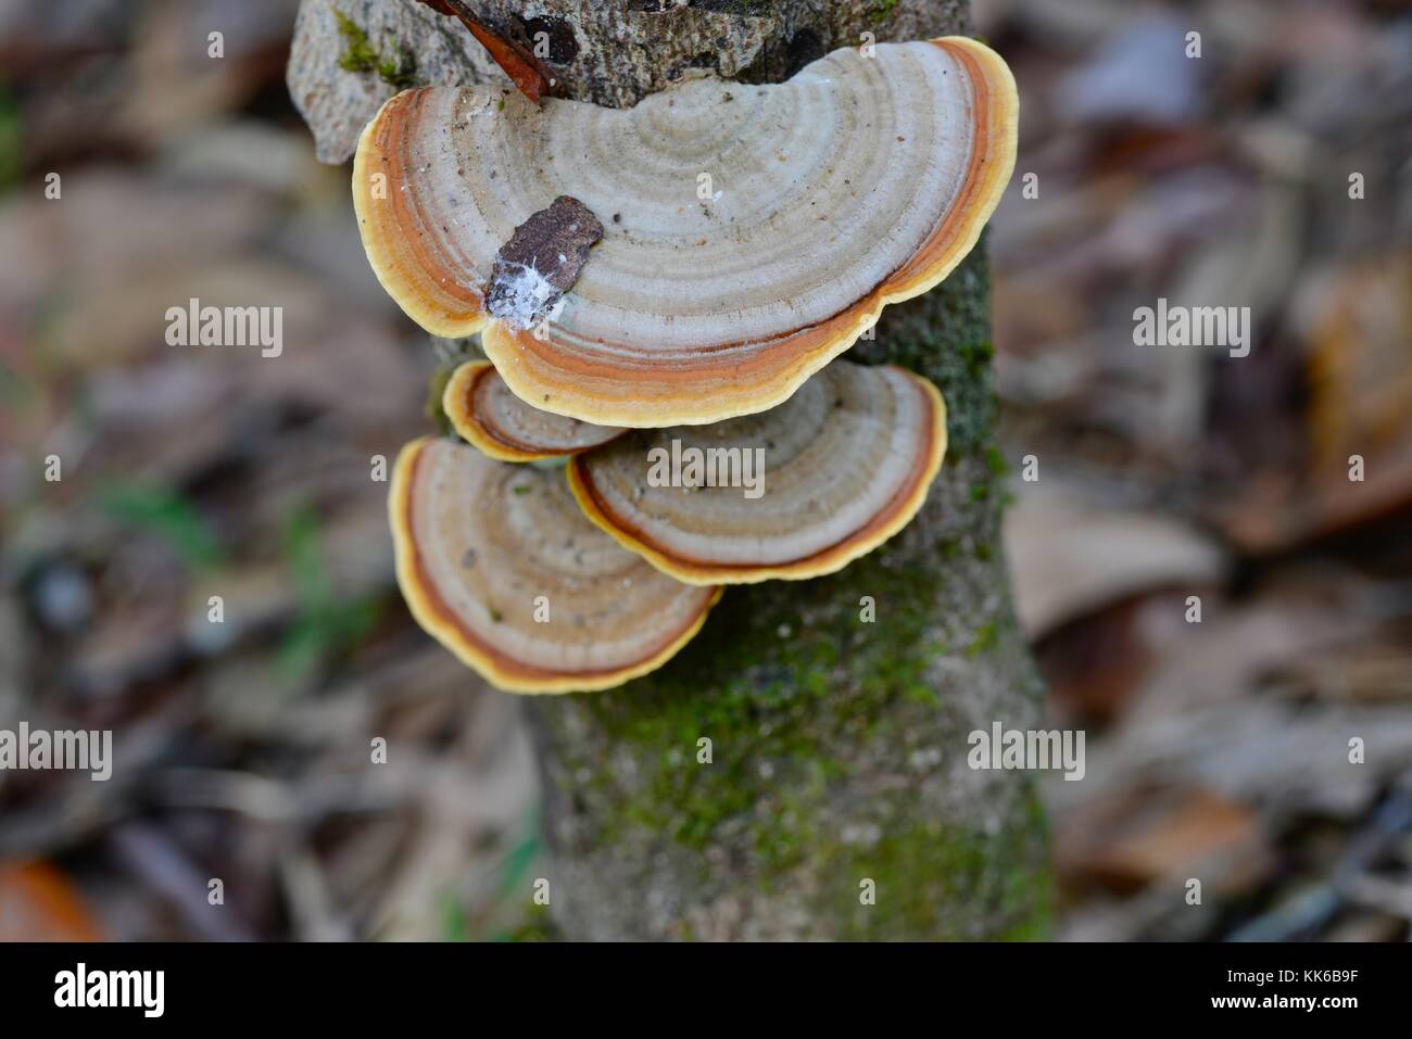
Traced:
<path fill-rule="evenodd" d="M 645 675 L 720 596 L 624 552 L 583 518 L 558 472 L 455 440 L 402 449 L 390 511 L 412 615 L 507 692 L 587 692 Z"/>

